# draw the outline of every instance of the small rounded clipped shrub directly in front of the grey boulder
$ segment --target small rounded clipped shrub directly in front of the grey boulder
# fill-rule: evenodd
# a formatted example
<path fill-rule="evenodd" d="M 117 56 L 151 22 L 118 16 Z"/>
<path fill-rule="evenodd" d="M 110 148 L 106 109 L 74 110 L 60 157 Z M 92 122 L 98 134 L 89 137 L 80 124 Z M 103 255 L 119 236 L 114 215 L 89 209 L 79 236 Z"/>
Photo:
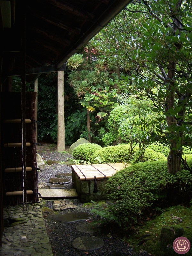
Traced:
<path fill-rule="evenodd" d="M 81 159 L 88 162 L 89 159 L 91 159 L 91 157 L 93 156 L 94 152 L 99 149 L 101 149 L 100 145 L 94 143 L 84 143 L 74 148 L 73 157 L 75 159 Z"/>

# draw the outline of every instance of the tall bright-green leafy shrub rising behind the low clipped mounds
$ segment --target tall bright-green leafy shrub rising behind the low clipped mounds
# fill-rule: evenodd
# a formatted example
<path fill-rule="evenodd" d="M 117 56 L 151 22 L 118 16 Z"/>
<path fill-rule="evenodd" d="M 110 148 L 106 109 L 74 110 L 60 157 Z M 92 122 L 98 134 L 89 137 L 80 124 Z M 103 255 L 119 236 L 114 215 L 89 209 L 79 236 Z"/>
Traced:
<path fill-rule="evenodd" d="M 123 105 L 114 108 L 109 115 L 108 132 L 103 135 L 104 145 L 113 143 L 138 143 L 144 149 L 154 132 L 157 114 L 151 110 L 152 103 L 146 100 L 118 97 Z M 109 139 L 109 141 L 107 140 Z"/>

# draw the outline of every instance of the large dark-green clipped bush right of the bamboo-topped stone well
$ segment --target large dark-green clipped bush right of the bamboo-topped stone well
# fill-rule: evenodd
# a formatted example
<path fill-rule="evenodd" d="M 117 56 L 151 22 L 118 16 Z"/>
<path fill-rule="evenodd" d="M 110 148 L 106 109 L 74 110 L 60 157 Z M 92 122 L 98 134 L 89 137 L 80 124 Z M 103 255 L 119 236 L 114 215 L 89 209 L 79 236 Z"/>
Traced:
<path fill-rule="evenodd" d="M 192 166 L 192 159 L 188 164 Z M 192 174 L 183 169 L 176 176 L 169 174 L 166 161 L 133 164 L 108 179 L 106 193 L 115 201 L 110 210 L 118 223 L 130 228 L 144 210 L 169 195 L 170 186 L 179 187 L 180 197 L 190 200 L 191 180 Z"/>

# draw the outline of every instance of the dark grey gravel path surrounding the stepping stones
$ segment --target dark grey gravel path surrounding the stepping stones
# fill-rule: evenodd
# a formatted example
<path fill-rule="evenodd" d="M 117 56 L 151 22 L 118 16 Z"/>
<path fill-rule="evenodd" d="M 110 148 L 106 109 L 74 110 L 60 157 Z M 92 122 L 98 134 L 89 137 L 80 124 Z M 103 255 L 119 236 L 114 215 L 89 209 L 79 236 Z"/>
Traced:
<path fill-rule="evenodd" d="M 59 152 L 38 152 L 44 160 L 65 161 L 67 158 L 72 158 L 69 154 Z M 45 165 L 42 172 L 39 172 L 39 187 L 48 188 L 49 179 L 55 177 L 57 173 L 69 173 L 71 167 L 64 164 Z M 71 178 L 69 178 L 71 179 Z M 72 188 L 72 182 L 65 185 L 66 188 Z M 59 211 L 64 214 L 66 212 L 88 212 L 91 208 L 85 207 L 78 199 L 71 200 L 77 206 L 76 209 Z M 45 206 L 53 209 L 52 201 L 46 201 Z M 47 219 L 49 212 L 44 212 L 44 220 L 47 229 L 47 234 L 52 246 L 54 256 L 147 256 L 147 252 L 136 253 L 133 249 L 123 241 L 125 236 L 124 231 L 119 230 L 115 226 L 105 226 L 99 232 L 94 234 L 85 234 L 76 229 L 76 226 L 82 221 L 73 223 L 63 223 L 55 220 Z M 79 236 L 96 236 L 104 241 L 104 246 L 96 251 L 79 251 L 72 247 L 72 242 Z M 118 252 L 118 253 L 117 253 Z"/>

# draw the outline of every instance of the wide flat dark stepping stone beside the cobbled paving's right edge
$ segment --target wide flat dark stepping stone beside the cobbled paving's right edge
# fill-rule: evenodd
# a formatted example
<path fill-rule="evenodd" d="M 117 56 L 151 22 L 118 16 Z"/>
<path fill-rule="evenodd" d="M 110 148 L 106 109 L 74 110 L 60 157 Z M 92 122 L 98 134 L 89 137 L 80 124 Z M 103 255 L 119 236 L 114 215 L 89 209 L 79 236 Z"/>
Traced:
<path fill-rule="evenodd" d="M 86 220 L 92 217 L 92 214 L 86 212 L 67 212 L 65 214 L 50 214 L 48 219 L 57 220 L 65 223 L 76 222 L 80 220 Z"/>

